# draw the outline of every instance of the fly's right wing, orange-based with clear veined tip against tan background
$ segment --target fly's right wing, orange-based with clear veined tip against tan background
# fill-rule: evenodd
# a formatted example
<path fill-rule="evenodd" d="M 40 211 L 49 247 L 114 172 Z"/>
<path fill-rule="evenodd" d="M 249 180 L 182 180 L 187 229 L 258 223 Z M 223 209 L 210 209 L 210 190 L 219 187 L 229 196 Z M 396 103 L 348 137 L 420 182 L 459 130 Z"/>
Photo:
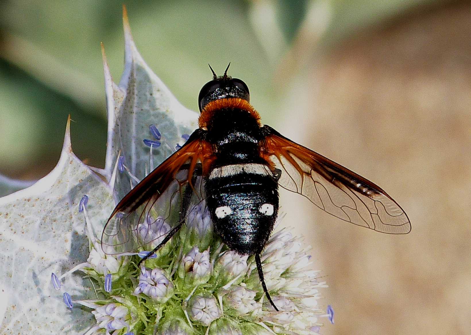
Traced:
<path fill-rule="evenodd" d="M 264 126 L 262 154 L 281 171 L 278 184 L 341 220 L 388 234 L 407 234 L 404 210 L 369 180 Z M 274 170 L 275 171 L 275 170 Z"/>

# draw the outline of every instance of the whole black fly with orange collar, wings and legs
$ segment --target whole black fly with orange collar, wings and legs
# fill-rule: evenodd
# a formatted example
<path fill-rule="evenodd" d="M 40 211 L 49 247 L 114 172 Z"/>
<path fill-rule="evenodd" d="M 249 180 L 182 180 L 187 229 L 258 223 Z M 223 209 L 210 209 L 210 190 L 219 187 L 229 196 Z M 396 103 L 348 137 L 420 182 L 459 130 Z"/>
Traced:
<path fill-rule="evenodd" d="M 260 262 L 278 214 L 278 186 L 362 227 L 389 234 L 411 230 L 406 213 L 379 186 L 262 125 L 247 85 L 227 76 L 227 69 L 219 77 L 211 71 L 213 80 L 198 98 L 199 128 L 118 203 L 101 239 L 107 254 L 149 245 L 161 235 L 152 233 L 148 217 L 165 208 L 161 217 L 171 220 L 170 208 L 179 206 L 176 225 L 154 253 L 179 231 L 196 196 L 206 201 L 222 241 L 239 254 L 255 255 L 263 290 L 278 311 Z M 170 197 L 162 196 L 166 192 Z M 164 198 L 170 204 L 159 202 Z"/>

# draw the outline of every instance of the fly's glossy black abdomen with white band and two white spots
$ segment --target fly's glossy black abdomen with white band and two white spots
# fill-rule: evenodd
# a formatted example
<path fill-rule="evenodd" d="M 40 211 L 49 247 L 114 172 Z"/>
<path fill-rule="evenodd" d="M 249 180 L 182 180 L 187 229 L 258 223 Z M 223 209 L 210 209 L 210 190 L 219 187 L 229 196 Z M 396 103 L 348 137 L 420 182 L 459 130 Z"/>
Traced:
<path fill-rule="evenodd" d="M 278 214 L 278 183 L 268 167 L 242 163 L 213 168 L 205 187 L 222 241 L 241 254 L 260 253 Z"/>

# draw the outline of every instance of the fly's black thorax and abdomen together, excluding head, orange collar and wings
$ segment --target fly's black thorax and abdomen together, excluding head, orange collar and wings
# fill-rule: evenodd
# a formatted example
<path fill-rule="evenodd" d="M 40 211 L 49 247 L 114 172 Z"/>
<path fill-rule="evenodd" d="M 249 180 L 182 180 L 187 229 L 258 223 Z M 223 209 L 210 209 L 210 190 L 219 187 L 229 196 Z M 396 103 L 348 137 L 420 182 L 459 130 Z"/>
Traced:
<path fill-rule="evenodd" d="M 260 156 L 263 138 L 244 110 L 222 109 L 208 124 L 217 159 L 205 178 L 206 204 L 216 233 L 240 254 L 260 254 L 278 214 L 278 183 Z"/>

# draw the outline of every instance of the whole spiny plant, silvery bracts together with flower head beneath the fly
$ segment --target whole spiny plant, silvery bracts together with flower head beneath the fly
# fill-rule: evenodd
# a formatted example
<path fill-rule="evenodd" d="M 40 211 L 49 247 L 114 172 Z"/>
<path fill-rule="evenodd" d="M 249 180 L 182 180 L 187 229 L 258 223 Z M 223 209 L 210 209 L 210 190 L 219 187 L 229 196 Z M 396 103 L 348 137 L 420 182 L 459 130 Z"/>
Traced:
<path fill-rule="evenodd" d="M 289 231 L 276 231 L 261 255 L 279 312 L 263 294 L 253 256 L 237 255 L 213 235 L 204 206 L 194 207 L 182 231 L 139 268 L 146 250 L 113 256 L 101 250 L 116 201 L 197 127 L 197 113 L 179 104 L 139 55 L 125 11 L 124 32 L 119 84 L 102 48 L 105 168 L 90 168 L 74 155 L 69 118 L 49 175 L 31 186 L 0 180 L 12 191 L 29 186 L 0 198 L 0 333 L 318 333 L 318 288 L 325 283 L 309 270 L 309 255 Z M 170 229 L 162 218 L 149 223 L 155 231 Z"/>

